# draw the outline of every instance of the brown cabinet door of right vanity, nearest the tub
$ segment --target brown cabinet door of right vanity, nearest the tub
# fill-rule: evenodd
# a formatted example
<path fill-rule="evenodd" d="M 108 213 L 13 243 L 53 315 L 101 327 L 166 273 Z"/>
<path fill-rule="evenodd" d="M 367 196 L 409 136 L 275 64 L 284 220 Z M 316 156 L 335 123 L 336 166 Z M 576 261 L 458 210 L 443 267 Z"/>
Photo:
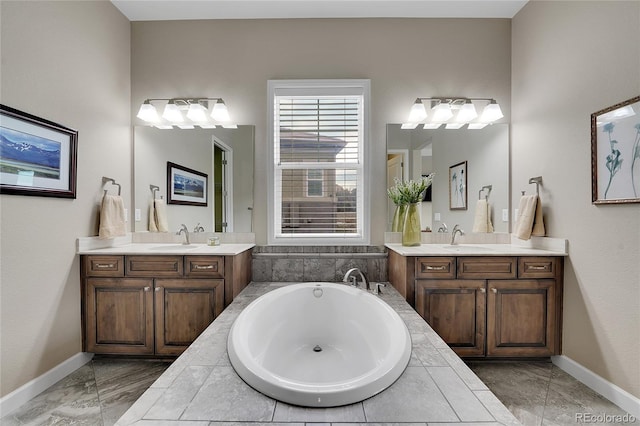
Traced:
<path fill-rule="evenodd" d="M 484 280 L 416 280 L 416 311 L 460 356 L 483 356 Z"/>

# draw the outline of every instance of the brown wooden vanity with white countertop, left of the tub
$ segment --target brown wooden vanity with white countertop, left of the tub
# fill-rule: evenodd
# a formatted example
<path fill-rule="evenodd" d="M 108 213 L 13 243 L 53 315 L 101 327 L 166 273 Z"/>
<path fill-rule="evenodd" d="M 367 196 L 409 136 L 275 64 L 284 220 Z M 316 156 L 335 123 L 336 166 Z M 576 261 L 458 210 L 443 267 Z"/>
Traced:
<path fill-rule="evenodd" d="M 80 252 L 83 350 L 181 354 L 251 281 L 253 244 Z"/>

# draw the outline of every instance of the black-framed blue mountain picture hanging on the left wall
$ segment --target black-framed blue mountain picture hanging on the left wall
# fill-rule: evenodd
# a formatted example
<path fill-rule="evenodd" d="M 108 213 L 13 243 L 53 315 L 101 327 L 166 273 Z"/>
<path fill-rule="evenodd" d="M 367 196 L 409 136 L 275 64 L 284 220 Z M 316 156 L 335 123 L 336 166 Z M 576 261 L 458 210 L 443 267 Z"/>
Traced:
<path fill-rule="evenodd" d="M 0 105 L 0 193 L 76 198 L 78 131 Z"/>

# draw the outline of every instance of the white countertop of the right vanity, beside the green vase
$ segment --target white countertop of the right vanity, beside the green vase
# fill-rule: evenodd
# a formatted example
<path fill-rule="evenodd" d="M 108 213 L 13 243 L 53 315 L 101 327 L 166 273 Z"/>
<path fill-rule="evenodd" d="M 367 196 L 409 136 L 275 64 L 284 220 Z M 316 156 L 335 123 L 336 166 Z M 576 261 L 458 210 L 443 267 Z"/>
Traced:
<path fill-rule="evenodd" d="M 401 256 L 567 256 L 566 248 L 533 248 L 514 244 L 422 244 L 414 247 L 385 244 Z"/>

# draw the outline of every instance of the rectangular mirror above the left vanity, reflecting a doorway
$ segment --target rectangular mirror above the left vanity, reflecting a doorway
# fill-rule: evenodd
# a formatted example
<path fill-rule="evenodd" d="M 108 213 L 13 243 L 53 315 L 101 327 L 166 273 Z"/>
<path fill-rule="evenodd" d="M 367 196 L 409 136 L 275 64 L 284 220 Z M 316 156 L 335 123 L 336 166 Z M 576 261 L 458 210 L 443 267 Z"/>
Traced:
<path fill-rule="evenodd" d="M 254 126 L 237 129 L 134 128 L 133 203 L 139 219 L 135 232 L 149 230 L 153 200 L 167 201 L 167 163 L 207 176 L 206 205 L 167 204 L 169 232 L 180 224 L 189 231 L 197 226 L 205 232 L 253 232 Z M 206 195 L 206 196 L 205 196 Z M 200 203 L 203 204 L 203 203 Z"/>

